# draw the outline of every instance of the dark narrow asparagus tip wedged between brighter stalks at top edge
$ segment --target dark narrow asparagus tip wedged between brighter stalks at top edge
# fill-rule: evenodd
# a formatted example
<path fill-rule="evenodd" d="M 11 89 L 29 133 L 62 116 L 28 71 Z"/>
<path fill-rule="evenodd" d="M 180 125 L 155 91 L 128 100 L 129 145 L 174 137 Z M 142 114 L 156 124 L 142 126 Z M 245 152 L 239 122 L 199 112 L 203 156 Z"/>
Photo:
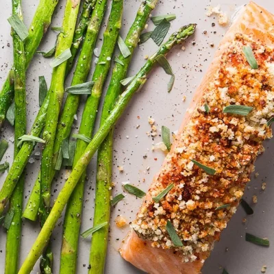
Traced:
<path fill-rule="evenodd" d="M 66 75 L 71 71 L 73 67 L 75 56 L 84 38 L 86 28 L 88 27 L 88 23 L 90 21 L 90 14 L 92 13 L 92 10 L 95 8 L 96 1 L 97 0 L 84 1 L 82 14 L 79 18 L 79 24 L 77 25 L 77 28 L 75 29 L 75 33 L 73 36 L 73 44 L 71 45 L 71 58 L 69 58 L 66 64 Z"/>

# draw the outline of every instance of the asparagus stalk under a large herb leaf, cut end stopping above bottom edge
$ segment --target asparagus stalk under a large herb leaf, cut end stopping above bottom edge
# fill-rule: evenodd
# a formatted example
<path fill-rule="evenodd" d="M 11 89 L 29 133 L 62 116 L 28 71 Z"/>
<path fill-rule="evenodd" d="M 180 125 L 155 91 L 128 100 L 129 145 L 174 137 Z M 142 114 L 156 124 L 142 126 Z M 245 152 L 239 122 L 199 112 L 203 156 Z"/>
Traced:
<path fill-rule="evenodd" d="M 103 15 L 105 14 L 106 3 L 106 0 L 97 1 L 95 9 L 92 12 L 92 16 L 90 18 L 90 23 L 88 25 L 86 37 L 82 46 L 82 51 L 79 55 L 71 86 L 84 83 L 86 81 L 86 77 L 88 77 L 88 72 L 90 71 L 91 66 L 92 54 L 95 49 L 95 43 L 99 34 Z M 77 112 L 78 106 L 79 95 L 69 94 L 66 98 L 66 103 L 64 104 L 64 109 L 58 122 L 57 133 L 53 147 L 51 181 L 55 174 L 54 166 L 57 162 L 62 142 L 65 138 L 69 137 L 71 127 L 73 125 L 74 115 Z M 23 216 L 32 221 L 36 219 L 38 213 L 37 205 L 39 205 L 40 203 L 40 195 L 38 195 L 38 192 L 40 192 L 40 180 L 36 180 L 34 189 L 29 196 L 27 207 L 23 214 Z"/>

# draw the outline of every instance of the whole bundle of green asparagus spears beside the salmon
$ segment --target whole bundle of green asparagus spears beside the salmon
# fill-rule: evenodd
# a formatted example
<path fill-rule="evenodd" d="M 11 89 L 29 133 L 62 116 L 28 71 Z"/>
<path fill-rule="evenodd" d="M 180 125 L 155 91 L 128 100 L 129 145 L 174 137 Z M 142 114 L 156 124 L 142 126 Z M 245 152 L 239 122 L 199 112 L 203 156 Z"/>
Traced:
<path fill-rule="evenodd" d="M 53 67 L 51 86 L 28 135 L 24 135 L 26 130 L 25 71 L 40 43 L 44 30 L 49 27 L 53 10 L 58 1 L 40 1 L 34 16 L 34 23 L 32 23 L 28 34 L 25 33 L 25 40 L 21 37 L 20 29 L 18 30 L 11 23 L 14 27 L 12 31 L 14 66 L 0 93 L 0 126 L 3 124 L 5 113 L 14 96 L 15 147 L 14 162 L 0 190 L 0 215 L 3 214 L 5 206 L 10 201 L 8 214 L 12 214 L 12 222 L 16 225 L 8 227 L 5 273 L 17 273 L 24 169 L 36 142 L 42 142 L 43 144 L 41 168 L 23 216 L 32 221 L 36 221 L 37 216 L 39 216 L 42 229 L 18 273 L 30 273 L 41 255 L 41 272 L 52 273 L 53 254 L 50 247 L 50 237 L 65 206 L 60 273 L 76 273 L 86 168 L 97 149 L 99 151 L 97 155 L 94 218 L 94 227 L 97 227 L 97 229 L 93 229 L 89 273 L 103 273 L 110 226 L 113 127 L 123 114 L 134 93 L 145 84 L 147 75 L 151 72 L 153 66 L 159 62 L 159 58 L 164 58 L 163 55 L 169 53 L 175 45 L 182 43 L 195 32 L 195 24 L 186 25 L 172 34 L 164 44 L 160 45 L 169 29 L 168 19 L 171 18 L 171 16 L 160 16 L 158 18 L 159 22 L 155 24 L 160 24 L 160 27 L 155 28 L 155 32 L 158 32 L 157 35 L 150 33 L 148 36 L 145 34 L 148 38 L 154 36 L 153 40 L 160 47 L 151 58 L 148 58 L 142 69 L 132 79 L 132 82 L 127 81 L 129 85 L 123 91 L 123 82 L 125 82 L 124 79 L 134 49 L 140 41 L 147 19 L 157 2 L 158 0 L 142 1 L 127 37 L 123 41 L 119 37 L 119 30 L 122 26 L 123 0 L 112 1 L 108 25 L 103 34 L 101 53 L 92 75 L 92 81 L 86 82 L 92 64 L 92 53 L 95 50 L 95 43 L 108 1 L 83 1 L 82 14 L 79 16 L 77 27 L 75 27 L 81 1 L 67 0 L 62 28 L 59 28 L 60 34 L 55 48 L 55 59 L 51 61 Z M 12 0 L 13 16 L 18 16 L 21 21 L 19 23 L 23 25 L 20 5 L 20 0 Z M 46 12 L 41 12 L 42 5 L 47 7 Z M 44 27 L 43 32 L 41 32 L 41 25 Z M 77 58 L 71 87 L 66 88 L 68 96 L 62 108 L 65 91 L 64 79 L 73 68 L 82 40 L 84 40 L 82 51 Z M 111 61 L 114 59 L 112 55 L 117 40 L 121 54 L 115 58 L 112 77 L 103 103 L 100 127 L 92 138 L 99 101 L 103 94 L 103 86 L 110 70 Z M 88 98 L 82 113 L 79 132 L 74 135 L 77 138 L 75 153 L 71 153 L 73 152 L 74 142 L 69 142 L 69 137 L 73 119 L 79 107 L 80 97 L 83 95 L 88 95 Z M 69 162 L 70 164 L 68 164 Z M 62 164 L 64 166 L 72 164 L 73 167 L 69 179 L 60 191 L 53 208 L 51 208 L 51 184 L 53 177 L 57 175 Z"/>

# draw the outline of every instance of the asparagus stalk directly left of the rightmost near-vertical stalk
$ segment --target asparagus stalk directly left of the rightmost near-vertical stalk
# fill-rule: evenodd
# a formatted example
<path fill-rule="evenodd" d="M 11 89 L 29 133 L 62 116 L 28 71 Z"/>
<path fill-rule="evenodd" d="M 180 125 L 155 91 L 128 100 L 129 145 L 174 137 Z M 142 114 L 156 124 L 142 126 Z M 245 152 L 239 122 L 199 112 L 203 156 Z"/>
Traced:
<path fill-rule="evenodd" d="M 111 58 L 118 38 L 119 30 L 121 29 L 123 15 L 123 0 L 112 1 L 112 10 L 108 26 L 103 34 L 103 45 L 99 55 L 99 61 L 95 67 L 95 72 L 92 76 L 92 81 L 95 82 L 90 97 L 86 101 L 82 121 L 79 127 L 79 134 L 84 136 L 92 136 L 92 129 L 95 124 L 95 116 L 103 84 L 110 69 Z M 87 126 L 88 125 L 88 126 Z M 77 140 L 75 158 L 73 166 L 77 163 L 87 144 L 83 140 Z M 84 184 L 86 172 L 82 174 L 69 203 L 66 206 L 66 214 L 64 217 L 64 235 L 61 250 L 60 274 L 76 273 L 77 262 L 77 247 L 79 229 L 81 225 L 82 201 L 84 196 Z"/>

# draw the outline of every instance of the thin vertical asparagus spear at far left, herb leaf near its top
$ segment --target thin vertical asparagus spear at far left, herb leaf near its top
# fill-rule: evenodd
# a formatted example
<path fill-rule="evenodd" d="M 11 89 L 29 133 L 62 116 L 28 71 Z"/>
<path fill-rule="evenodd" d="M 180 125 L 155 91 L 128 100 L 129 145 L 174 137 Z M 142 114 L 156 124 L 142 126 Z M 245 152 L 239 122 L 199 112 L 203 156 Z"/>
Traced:
<path fill-rule="evenodd" d="M 23 21 L 21 0 L 12 0 L 12 14 L 17 14 Z M 14 55 L 14 155 L 18 153 L 18 138 L 23 136 L 27 127 L 27 113 L 25 103 L 25 51 L 24 42 L 18 34 L 12 30 L 13 55 Z M 14 212 L 12 223 L 8 228 L 7 241 L 5 243 L 5 274 L 16 274 L 18 271 L 18 258 L 20 253 L 21 227 L 22 227 L 22 203 L 24 189 L 24 174 L 10 198 L 9 212 Z"/>

